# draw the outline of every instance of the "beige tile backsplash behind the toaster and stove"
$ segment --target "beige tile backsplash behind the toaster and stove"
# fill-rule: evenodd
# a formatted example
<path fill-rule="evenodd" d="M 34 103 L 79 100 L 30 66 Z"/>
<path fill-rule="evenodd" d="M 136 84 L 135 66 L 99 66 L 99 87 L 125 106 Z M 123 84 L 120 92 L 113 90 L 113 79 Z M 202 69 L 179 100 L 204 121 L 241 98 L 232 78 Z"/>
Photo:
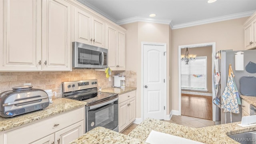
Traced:
<path fill-rule="evenodd" d="M 112 75 L 120 73 L 126 76 L 126 86 L 136 87 L 136 72 L 133 71 L 112 71 L 111 81 L 106 78 L 105 71 L 94 69 L 73 69 L 72 72 L 0 72 L 0 93 L 12 90 L 14 86 L 31 83 L 33 88 L 56 91 L 57 97 L 60 98 L 62 82 L 98 79 L 98 86 L 108 88 L 114 85 Z"/>

